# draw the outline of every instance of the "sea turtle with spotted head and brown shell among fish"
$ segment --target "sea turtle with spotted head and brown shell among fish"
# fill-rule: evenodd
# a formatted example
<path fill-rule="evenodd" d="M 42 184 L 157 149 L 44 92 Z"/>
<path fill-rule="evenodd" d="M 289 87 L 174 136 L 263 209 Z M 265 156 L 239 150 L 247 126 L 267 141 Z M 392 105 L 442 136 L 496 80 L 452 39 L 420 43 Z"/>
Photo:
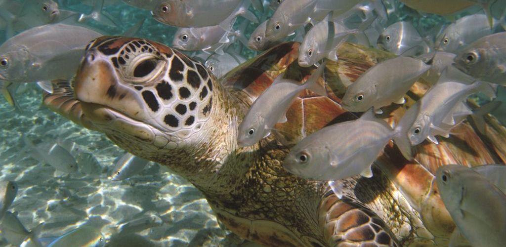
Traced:
<path fill-rule="evenodd" d="M 239 148 L 237 127 L 274 78 L 284 72 L 303 81 L 314 70 L 298 65 L 299 45 L 278 45 L 218 81 L 199 62 L 162 44 L 100 37 L 88 46 L 71 83 L 55 82 L 44 104 L 186 178 L 218 220 L 243 238 L 269 246 L 445 245 L 455 225 L 433 174 L 448 163 L 503 162 L 503 127 L 490 125 L 488 117 L 487 135 L 478 135 L 462 123 L 439 145 L 418 145 L 415 161 L 390 143 L 373 166 L 374 176 L 343 180 L 344 197 L 338 199 L 327 182 L 293 176 L 282 160 L 310 133 L 355 119 L 340 106 L 346 86 L 392 55 L 343 45 L 339 61 L 329 62 L 319 81 L 326 82 L 328 97 L 303 92 L 275 135 Z M 406 105 L 426 89 L 417 82 Z M 395 104 L 381 116 L 397 122 L 404 111 Z"/>

